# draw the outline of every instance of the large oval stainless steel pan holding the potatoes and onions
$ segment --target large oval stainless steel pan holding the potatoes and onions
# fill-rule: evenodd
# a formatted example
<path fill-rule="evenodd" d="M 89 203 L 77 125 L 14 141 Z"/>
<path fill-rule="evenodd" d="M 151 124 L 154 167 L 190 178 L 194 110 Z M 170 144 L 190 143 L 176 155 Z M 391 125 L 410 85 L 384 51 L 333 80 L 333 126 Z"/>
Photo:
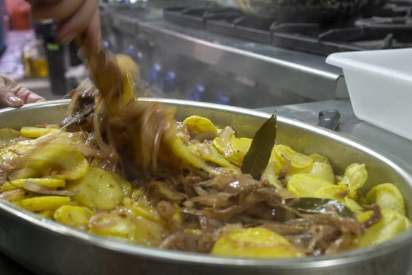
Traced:
<path fill-rule="evenodd" d="M 145 99 L 144 99 L 145 100 Z M 146 99 L 153 100 L 153 99 Z M 156 100 L 159 101 L 159 100 Z M 180 100 L 161 100 L 176 107 L 179 120 L 203 115 L 238 135 L 252 137 L 267 113 Z M 0 111 L 0 127 L 58 123 L 69 101 L 59 100 Z M 329 157 L 337 173 L 352 162 L 367 164 L 371 184 L 393 182 L 412 213 L 412 178 L 387 156 L 332 131 L 278 118 L 278 139 L 304 153 Z M 411 214 L 409 214 L 411 218 Z M 387 275 L 406 274 L 411 263 L 412 229 L 387 243 L 332 256 L 307 259 L 225 259 L 205 254 L 171 252 L 119 243 L 68 228 L 0 200 L 0 248 L 19 263 L 47 275 L 89 274 L 276 274 Z"/>

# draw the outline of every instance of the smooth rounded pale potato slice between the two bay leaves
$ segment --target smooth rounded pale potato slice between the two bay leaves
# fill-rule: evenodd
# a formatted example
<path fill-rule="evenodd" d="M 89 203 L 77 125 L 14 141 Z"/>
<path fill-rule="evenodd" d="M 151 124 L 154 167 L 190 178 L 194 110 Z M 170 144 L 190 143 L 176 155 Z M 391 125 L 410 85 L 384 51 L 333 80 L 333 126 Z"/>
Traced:
<path fill-rule="evenodd" d="M 288 181 L 288 190 L 297 197 L 313 197 L 324 186 L 332 186 L 330 181 L 314 175 L 297 174 Z"/>

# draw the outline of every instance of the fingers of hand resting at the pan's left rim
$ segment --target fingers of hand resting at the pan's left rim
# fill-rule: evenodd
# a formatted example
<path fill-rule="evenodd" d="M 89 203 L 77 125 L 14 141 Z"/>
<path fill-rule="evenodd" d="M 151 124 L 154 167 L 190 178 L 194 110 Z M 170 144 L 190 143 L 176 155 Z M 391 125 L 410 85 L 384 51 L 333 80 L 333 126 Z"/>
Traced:
<path fill-rule="evenodd" d="M 42 101 L 45 99 L 17 84 L 12 78 L 0 75 L 0 108 L 21 107 L 26 103 Z"/>

